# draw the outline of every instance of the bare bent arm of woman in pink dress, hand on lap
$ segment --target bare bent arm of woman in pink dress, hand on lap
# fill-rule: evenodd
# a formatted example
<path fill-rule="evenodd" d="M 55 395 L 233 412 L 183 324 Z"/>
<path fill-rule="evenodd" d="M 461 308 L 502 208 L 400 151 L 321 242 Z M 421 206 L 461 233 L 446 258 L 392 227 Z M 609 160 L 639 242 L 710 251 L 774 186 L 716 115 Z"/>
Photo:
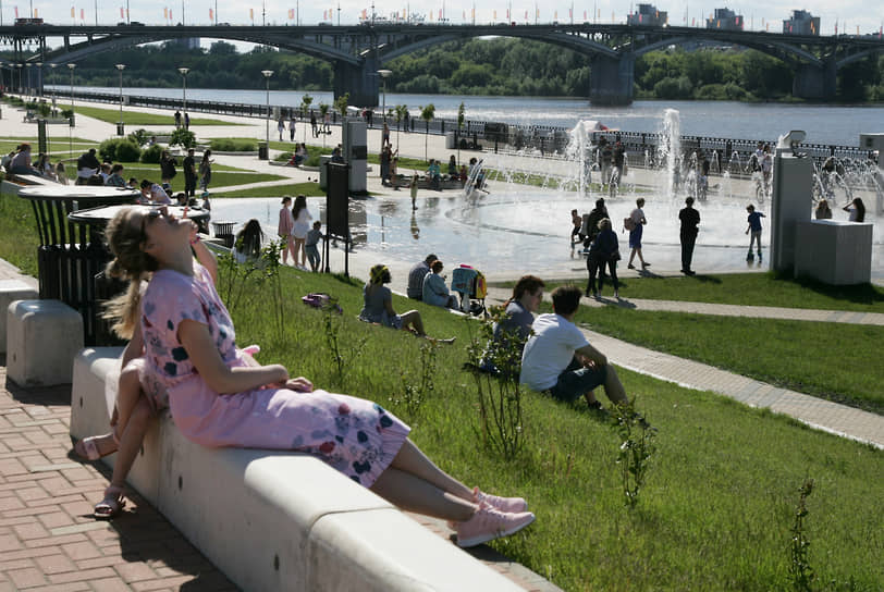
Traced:
<path fill-rule="evenodd" d="M 194 368 L 206 384 L 218 393 L 242 393 L 268 384 L 283 384 L 288 380 L 288 372 L 278 363 L 229 368 L 221 359 L 209 328 L 200 322 L 183 320 L 179 324 L 177 336 Z"/>

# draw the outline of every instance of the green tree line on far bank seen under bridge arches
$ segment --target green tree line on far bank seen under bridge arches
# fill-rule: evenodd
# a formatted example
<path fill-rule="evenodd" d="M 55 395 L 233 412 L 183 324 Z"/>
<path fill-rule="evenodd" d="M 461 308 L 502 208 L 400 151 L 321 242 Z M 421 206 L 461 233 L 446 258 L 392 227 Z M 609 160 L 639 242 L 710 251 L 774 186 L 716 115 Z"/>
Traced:
<path fill-rule="evenodd" d="M 331 62 L 287 50 L 256 46 L 241 53 L 225 41 L 185 49 L 174 41 L 124 49 L 126 86 L 177 87 L 177 67 L 191 67 L 193 88 L 265 88 L 261 70 L 273 70 L 272 89 L 328 90 Z M 588 97 L 592 71 L 587 55 L 557 46 L 514 38 L 451 41 L 401 55 L 385 67 L 388 91 L 439 95 Z M 65 73 L 66 74 L 66 73 Z M 46 82 L 53 81 L 46 75 Z M 75 84 L 116 86 L 107 54 L 78 63 Z M 637 99 L 791 100 L 793 69 L 754 50 L 670 48 L 641 55 L 635 65 Z M 67 82 L 59 81 L 61 84 Z M 884 55 L 838 71 L 836 101 L 884 101 Z"/>

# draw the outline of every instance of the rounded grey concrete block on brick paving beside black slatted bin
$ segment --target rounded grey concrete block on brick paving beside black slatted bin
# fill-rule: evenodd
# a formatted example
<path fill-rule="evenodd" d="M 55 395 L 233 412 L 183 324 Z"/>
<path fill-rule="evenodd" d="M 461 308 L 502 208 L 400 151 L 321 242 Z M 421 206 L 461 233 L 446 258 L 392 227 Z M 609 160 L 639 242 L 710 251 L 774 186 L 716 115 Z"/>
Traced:
<path fill-rule="evenodd" d="M 66 384 L 83 349 L 83 318 L 61 300 L 16 300 L 7 312 L 7 375 L 20 386 Z"/>

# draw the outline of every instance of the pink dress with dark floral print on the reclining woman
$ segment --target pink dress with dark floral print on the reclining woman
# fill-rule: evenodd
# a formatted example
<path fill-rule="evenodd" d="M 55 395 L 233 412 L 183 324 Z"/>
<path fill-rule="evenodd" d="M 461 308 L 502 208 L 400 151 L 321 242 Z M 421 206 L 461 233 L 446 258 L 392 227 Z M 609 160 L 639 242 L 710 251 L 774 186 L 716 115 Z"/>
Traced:
<path fill-rule="evenodd" d="M 193 278 L 171 270 L 154 274 L 142 299 L 145 359 L 164 384 L 175 424 L 188 440 L 309 453 L 366 488 L 405 442 L 409 428 L 370 400 L 319 390 L 212 391 L 177 340 L 185 319 L 208 326 L 229 367 L 248 362 L 236 349 L 233 322 L 206 268 L 195 262 Z"/>

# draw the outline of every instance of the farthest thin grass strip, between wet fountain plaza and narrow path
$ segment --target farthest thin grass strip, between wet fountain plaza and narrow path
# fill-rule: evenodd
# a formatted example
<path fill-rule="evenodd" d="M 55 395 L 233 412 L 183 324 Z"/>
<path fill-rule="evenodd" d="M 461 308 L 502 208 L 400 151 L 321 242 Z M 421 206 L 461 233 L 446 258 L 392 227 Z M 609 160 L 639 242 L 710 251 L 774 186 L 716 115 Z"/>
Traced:
<path fill-rule="evenodd" d="M 547 291 L 569 283 L 548 282 Z M 570 282 L 573 283 L 573 282 Z M 585 285 L 586 280 L 577 282 Z M 722 305 L 774 306 L 884 312 L 884 288 L 873 284 L 831 286 L 790 275 L 733 273 L 692 278 L 640 278 L 622 281 L 622 298 L 650 298 Z M 512 287 L 514 282 L 500 285 Z"/>

